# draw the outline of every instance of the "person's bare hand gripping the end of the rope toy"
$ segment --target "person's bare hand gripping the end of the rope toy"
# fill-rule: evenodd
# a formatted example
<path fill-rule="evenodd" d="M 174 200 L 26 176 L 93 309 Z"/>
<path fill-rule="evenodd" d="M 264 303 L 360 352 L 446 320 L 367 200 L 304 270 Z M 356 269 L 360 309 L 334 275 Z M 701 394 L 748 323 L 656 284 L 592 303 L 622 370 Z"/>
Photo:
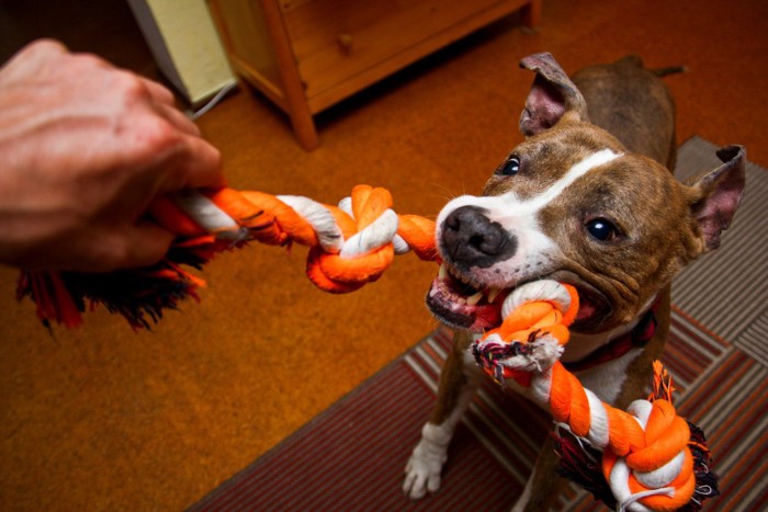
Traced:
<path fill-rule="evenodd" d="M 218 151 L 160 86 L 39 41 L 0 68 L 0 262 L 103 272 L 159 261 L 154 197 L 224 185 Z"/>

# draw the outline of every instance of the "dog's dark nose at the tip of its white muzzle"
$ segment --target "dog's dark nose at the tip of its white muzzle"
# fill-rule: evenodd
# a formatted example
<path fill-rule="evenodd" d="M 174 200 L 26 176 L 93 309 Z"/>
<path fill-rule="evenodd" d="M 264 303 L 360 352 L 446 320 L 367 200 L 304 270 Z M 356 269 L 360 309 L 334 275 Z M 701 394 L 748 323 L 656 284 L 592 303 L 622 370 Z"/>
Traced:
<path fill-rule="evenodd" d="M 462 206 L 445 217 L 441 244 L 444 255 L 460 266 L 487 268 L 517 250 L 515 237 L 476 206 Z"/>

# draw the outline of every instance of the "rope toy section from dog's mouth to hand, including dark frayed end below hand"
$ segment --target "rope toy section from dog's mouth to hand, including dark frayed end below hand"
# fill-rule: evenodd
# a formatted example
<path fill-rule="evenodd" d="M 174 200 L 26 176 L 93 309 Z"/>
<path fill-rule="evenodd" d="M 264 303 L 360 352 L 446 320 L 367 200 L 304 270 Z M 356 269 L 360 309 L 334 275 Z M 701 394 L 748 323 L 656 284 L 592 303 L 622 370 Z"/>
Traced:
<path fill-rule="evenodd" d="M 249 241 L 309 247 L 307 275 L 319 288 L 347 293 L 377 280 L 394 255 L 413 251 L 438 260 L 434 221 L 397 215 L 392 194 L 358 185 L 339 206 L 307 197 L 219 189 L 194 190 L 155 200 L 153 219 L 177 235 L 163 261 L 147 269 L 106 274 L 23 272 L 16 296 L 30 296 L 48 325 L 77 327 L 81 312 L 103 304 L 133 328 L 150 327 L 165 309 L 197 298 L 204 282 L 182 265 L 202 268 L 217 252 Z"/>

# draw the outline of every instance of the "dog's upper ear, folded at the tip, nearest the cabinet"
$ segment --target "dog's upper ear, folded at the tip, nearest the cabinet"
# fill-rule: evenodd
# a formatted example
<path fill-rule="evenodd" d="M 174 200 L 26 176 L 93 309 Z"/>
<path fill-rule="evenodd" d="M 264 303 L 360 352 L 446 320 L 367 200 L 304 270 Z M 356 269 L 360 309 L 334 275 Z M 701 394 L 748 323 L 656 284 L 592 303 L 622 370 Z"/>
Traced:
<path fill-rule="evenodd" d="M 566 113 L 576 116 L 576 121 L 589 121 L 584 96 L 552 54 L 529 55 L 520 67 L 537 73 L 520 114 L 520 132 L 524 136 L 551 128 Z"/>

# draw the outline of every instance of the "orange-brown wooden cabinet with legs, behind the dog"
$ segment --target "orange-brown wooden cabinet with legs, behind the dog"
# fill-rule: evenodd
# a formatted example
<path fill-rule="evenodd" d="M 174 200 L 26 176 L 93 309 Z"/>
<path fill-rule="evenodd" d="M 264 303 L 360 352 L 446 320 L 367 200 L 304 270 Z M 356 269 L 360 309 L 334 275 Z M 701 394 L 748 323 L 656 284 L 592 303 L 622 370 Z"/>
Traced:
<path fill-rule="evenodd" d="M 283 109 L 306 149 L 313 115 L 542 0 L 208 0 L 235 72 Z"/>

